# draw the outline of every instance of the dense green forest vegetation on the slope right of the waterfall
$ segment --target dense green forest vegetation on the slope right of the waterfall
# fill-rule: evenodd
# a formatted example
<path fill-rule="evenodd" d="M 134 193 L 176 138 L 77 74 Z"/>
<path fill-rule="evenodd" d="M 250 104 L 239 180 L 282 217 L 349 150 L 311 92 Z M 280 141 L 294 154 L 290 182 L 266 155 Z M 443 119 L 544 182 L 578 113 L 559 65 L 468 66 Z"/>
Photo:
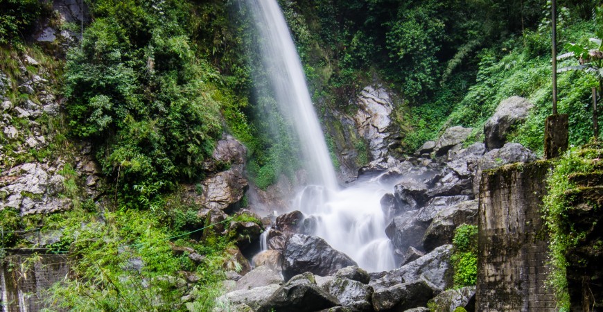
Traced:
<path fill-rule="evenodd" d="M 318 103 L 348 111 L 349 98 L 366 84 L 400 90 L 408 102 L 399 119 L 402 147 L 413 153 L 452 125 L 473 127 L 471 138 L 481 137 L 500 101 L 524 96 L 536 107 L 509 139 L 542 153 L 543 121 L 552 101 L 550 3 L 313 3 L 281 1 L 281 6 Z M 599 4 L 558 3 L 559 46 L 586 46 L 600 25 L 593 17 Z M 566 61 L 560 67 L 574 64 Z M 559 75 L 559 111 L 570 114 L 573 144 L 585 144 L 592 136 L 588 105 L 594 86 L 593 76 Z"/>

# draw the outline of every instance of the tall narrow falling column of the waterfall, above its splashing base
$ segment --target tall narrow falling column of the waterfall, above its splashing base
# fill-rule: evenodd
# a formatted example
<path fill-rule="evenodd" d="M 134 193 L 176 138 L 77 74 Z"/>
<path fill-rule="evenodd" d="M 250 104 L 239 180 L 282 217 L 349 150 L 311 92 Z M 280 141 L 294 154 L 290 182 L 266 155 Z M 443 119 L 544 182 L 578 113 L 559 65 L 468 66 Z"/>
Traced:
<path fill-rule="evenodd" d="M 310 182 L 337 188 L 335 170 L 314 111 L 306 76 L 289 28 L 276 0 L 247 0 L 261 35 L 264 66 L 281 113 L 289 116 L 302 144 Z"/>

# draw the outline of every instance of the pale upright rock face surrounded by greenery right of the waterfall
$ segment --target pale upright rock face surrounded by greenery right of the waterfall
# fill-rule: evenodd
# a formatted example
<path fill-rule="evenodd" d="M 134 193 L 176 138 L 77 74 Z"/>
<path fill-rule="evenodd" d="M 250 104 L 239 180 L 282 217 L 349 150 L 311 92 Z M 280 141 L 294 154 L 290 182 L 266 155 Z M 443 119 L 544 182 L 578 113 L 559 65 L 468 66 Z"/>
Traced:
<path fill-rule="evenodd" d="M 383 87 L 365 87 L 358 96 L 358 112 L 354 116 L 358 133 L 369 142 L 372 159 L 385 157 L 392 144 L 392 120 L 394 110 L 390 93 Z"/>

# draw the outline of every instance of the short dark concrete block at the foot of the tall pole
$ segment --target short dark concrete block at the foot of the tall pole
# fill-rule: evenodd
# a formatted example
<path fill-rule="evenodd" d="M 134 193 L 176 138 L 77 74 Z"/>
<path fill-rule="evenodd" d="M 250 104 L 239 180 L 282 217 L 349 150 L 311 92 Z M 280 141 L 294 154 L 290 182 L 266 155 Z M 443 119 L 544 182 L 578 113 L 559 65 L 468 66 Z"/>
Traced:
<path fill-rule="evenodd" d="M 557 158 L 568 150 L 568 115 L 557 114 L 546 118 L 544 128 L 544 157 Z"/>

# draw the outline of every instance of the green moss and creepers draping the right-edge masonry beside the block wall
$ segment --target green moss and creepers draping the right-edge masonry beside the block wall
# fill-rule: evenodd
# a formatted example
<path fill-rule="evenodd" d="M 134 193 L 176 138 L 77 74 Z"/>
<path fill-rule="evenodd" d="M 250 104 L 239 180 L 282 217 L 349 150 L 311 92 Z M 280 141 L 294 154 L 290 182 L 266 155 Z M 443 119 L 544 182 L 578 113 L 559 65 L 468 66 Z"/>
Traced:
<path fill-rule="evenodd" d="M 596 159 L 600 159 L 601 150 L 591 147 L 571 148 L 557 161 L 547 179 L 548 193 L 543 199 L 542 213 L 545 226 L 550 234 L 549 250 L 552 266 L 548 285 L 552 287 L 557 297 L 557 306 L 565 311 L 570 311 L 566 274 L 566 268 L 570 264 L 567 258 L 568 252 L 570 248 L 574 248 L 584 241 L 586 236 L 586 232 L 575 227 L 573 223 L 575 221 L 570 221 L 569 218 L 572 211 L 579 209 L 573 204 L 575 200 L 573 191 L 578 189 L 578 186 L 569 177 L 596 171 L 595 166 L 598 164 Z M 588 202 L 588 205 L 593 205 L 594 209 L 598 209 L 597 202 Z M 593 246 L 593 248 L 597 247 Z"/>

